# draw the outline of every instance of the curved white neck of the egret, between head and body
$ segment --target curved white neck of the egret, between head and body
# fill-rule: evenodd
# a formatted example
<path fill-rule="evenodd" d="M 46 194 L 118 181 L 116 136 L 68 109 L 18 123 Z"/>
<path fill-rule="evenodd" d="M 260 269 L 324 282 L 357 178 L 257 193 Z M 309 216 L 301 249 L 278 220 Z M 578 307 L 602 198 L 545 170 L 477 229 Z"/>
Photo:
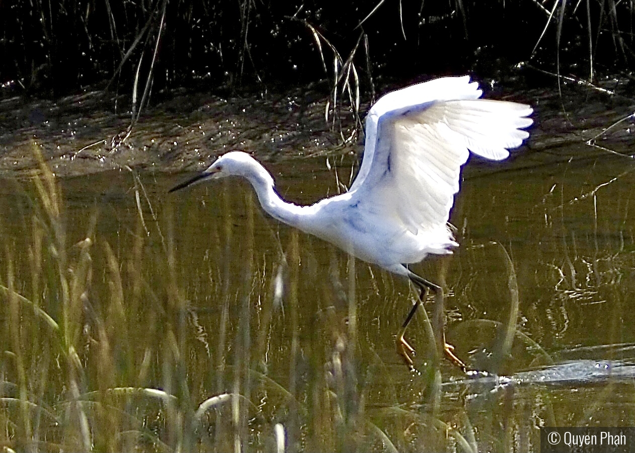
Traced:
<path fill-rule="evenodd" d="M 302 228 L 307 206 L 298 206 L 281 199 L 274 190 L 273 178 L 266 171 L 250 174 L 246 178 L 258 195 L 260 206 L 267 214 L 288 225 Z"/>

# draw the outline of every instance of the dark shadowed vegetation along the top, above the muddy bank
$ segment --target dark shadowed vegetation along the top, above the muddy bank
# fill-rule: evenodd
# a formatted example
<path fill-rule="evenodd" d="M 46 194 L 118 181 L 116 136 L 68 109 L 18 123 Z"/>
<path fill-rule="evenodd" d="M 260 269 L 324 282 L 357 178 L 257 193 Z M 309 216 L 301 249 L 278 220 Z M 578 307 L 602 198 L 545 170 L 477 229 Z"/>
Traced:
<path fill-rule="evenodd" d="M 382 78 L 504 77 L 521 62 L 589 81 L 628 69 L 632 18 L 614 0 L 0 1 L 0 81 L 3 95 L 130 92 L 138 71 L 152 93 L 262 92 L 333 81 L 333 49 L 352 56 L 362 91 Z"/>

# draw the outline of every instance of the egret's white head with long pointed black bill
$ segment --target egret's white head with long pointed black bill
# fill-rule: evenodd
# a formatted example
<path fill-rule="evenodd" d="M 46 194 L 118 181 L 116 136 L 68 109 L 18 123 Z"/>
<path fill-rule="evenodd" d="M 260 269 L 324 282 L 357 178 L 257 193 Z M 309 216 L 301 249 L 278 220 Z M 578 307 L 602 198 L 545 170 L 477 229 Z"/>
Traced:
<path fill-rule="evenodd" d="M 263 172 L 269 176 L 264 168 L 246 152 L 230 151 L 218 157 L 213 164 L 201 173 L 171 188 L 170 192 L 203 181 L 217 180 L 224 176 L 243 176 L 248 180 L 253 180 L 253 178 L 257 176 L 262 177 Z M 269 176 L 269 178 L 271 178 L 271 176 Z"/>

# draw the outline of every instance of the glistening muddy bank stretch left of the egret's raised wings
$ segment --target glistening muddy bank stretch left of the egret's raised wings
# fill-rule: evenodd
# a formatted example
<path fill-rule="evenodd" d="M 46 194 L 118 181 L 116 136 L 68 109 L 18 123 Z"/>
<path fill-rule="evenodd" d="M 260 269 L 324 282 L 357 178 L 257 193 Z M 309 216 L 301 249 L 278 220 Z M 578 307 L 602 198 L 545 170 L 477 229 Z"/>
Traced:
<path fill-rule="evenodd" d="M 234 149 L 264 161 L 311 155 L 339 148 L 342 135 L 354 135 L 354 116 L 326 123 L 326 98 L 311 91 L 266 99 L 182 93 L 146 110 L 125 140 L 131 114 L 125 107 L 117 112 L 116 104 L 100 91 L 58 102 L 1 101 L 0 173 L 28 174 L 36 167 L 34 146 L 64 177 L 125 166 L 193 170 Z"/>

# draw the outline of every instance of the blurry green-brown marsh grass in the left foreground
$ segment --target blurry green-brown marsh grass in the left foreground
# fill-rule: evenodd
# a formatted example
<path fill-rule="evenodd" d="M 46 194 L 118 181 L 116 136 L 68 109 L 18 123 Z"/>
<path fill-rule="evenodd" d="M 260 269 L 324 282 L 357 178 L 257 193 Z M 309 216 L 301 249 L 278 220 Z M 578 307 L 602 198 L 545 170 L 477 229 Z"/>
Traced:
<path fill-rule="evenodd" d="M 210 294 L 208 310 L 218 313 L 210 320 L 190 301 L 192 274 L 180 263 L 187 247 L 175 235 L 184 226 L 178 207 L 150 209 L 131 174 L 137 220 L 130 242 L 122 247 L 100 233 L 104 214 L 95 206 L 69 233 L 60 183 L 36 157 L 39 167 L 23 185 L 22 225 L 1 225 L 4 448 L 397 451 L 431 438 L 467 445 L 436 409 L 398 409 L 392 397 L 383 412 L 376 403 L 369 412 L 376 400 L 371 384 L 390 383 L 394 365 L 358 334 L 354 259 L 333 256 L 331 282 L 317 286 L 324 296 L 307 331 L 300 308 L 315 299 L 301 282 L 316 268 L 302 263 L 314 258 L 300 250 L 297 232 L 281 239 L 272 232 L 281 261 L 263 261 L 256 253 L 258 211 L 247 192 L 246 217 L 238 219 L 246 229 L 239 268 L 223 258 L 236 253 L 228 248 L 236 218 L 228 215 L 208 232 L 219 238 L 203 263 L 211 280 L 195 291 Z M 220 206 L 231 195 L 224 197 Z M 240 284 L 229 289 L 225 282 L 235 279 Z M 341 289 L 335 297 L 333 288 Z M 276 348 L 286 351 L 282 362 Z M 425 379 L 420 384 L 427 386 Z M 394 440 L 389 431 L 398 426 L 425 428 L 425 437 Z"/>

